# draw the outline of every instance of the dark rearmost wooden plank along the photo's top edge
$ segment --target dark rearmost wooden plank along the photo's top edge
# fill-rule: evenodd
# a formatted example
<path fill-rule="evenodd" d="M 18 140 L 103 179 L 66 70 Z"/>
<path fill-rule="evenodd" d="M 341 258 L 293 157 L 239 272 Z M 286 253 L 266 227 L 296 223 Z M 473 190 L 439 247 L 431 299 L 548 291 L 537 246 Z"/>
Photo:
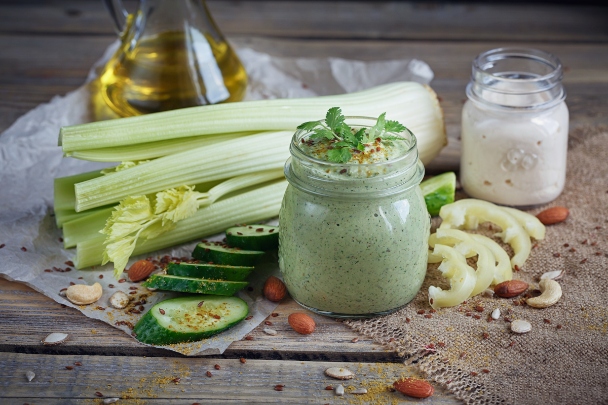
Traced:
<path fill-rule="evenodd" d="M 126 1 L 129 10 L 134 1 Z M 412 1 L 208 1 L 226 35 L 466 41 L 608 41 L 605 7 Z M 100 1 L 0 5 L 0 32 L 113 34 Z"/>

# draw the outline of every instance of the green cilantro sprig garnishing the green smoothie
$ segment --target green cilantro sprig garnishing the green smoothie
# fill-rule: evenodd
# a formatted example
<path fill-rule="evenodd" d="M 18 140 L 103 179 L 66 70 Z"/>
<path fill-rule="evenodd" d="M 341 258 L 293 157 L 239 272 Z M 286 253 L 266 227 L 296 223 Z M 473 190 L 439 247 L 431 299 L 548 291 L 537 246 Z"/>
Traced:
<path fill-rule="evenodd" d="M 409 134 L 412 134 L 412 131 L 398 121 L 386 120 L 385 112 L 378 117 L 376 124 L 369 131 L 365 131 L 364 128 L 355 131 L 344 122 L 344 119 L 340 107 L 332 107 L 325 115 L 325 123 L 321 121 L 308 121 L 298 126 L 298 129 L 312 131 L 313 133 L 309 135 L 309 138 L 335 140 L 332 145 L 333 149 L 327 151 L 327 158 L 335 163 L 348 162 L 353 157 L 351 150 L 357 149 L 365 152 L 365 145 L 376 138 L 381 138 L 381 141 L 406 140 L 395 135 L 386 135 L 389 132 L 398 134 L 399 132 L 407 131 Z"/>

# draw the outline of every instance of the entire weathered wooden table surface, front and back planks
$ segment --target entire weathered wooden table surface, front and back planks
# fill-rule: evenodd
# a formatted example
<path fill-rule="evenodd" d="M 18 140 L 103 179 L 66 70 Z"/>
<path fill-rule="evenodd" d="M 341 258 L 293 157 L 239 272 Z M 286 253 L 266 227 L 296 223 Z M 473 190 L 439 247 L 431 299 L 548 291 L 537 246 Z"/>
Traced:
<path fill-rule="evenodd" d="M 129 7 L 133 2 L 127 1 Z M 564 64 L 571 129 L 608 123 L 608 8 L 534 4 L 441 4 L 366 1 L 209 1 L 232 43 L 280 56 L 340 56 L 360 60 L 418 58 L 435 72 L 449 146 L 427 171 L 458 168 L 460 111 L 471 61 L 502 46 L 536 47 Z M 114 41 L 98 0 L 0 1 L 0 131 L 54 95 L 74 90 Z M 3 264 L 10 265 L 10 264 Z M 370 394 L 355 403 L 418 402 L 385 387 L 408 370 L 397 353 L 340 322 L 311 314 L 312 335 L 287 324 L 302 311 L 291 299 L 271 318 L 276 336 L 257 327 L 253 340 L 233 342 L 221 356 L 187 358 L 137 344 L 125 333 L 77 310 L 0 279 L 0 403 L 338 403 L 323 370 L 358 370 Z M 56 330 L 71 339 L 57 346 L 40 340 Z M 245 364 L 239 359 L 247 359 Z M 75 361 L 81 367 L 67 370 Z M 218 364 L 219 370 L 213 366 Z M 28 383 L 26 370 L 36 378 Z M 213 373 L 208 377 L 206 372 Z M 180 377 L 179 383 L 171 379 Z M 285 390 L 273 390 L 285 384 Z M 371 394 L 371 393 L 375 394 Z M 61 398 L 61 399 L 60 399 Z M 354 400 L 353 400 L 354 398 Z M 427 404 L 456 404 L 437 389 Z"/>

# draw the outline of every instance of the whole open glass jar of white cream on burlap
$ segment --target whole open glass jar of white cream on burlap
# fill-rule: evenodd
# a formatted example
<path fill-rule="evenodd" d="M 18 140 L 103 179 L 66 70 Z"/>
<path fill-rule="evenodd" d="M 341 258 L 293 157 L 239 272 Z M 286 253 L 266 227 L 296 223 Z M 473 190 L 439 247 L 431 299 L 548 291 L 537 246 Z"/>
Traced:
<path fill-rule="evenodd" d="M 460 182 L 469 196 L 523 208 L 561 194 L 569 119 L 562 77 L 559 59 L 540 50 L 475 58 L 462 110 Z"/>

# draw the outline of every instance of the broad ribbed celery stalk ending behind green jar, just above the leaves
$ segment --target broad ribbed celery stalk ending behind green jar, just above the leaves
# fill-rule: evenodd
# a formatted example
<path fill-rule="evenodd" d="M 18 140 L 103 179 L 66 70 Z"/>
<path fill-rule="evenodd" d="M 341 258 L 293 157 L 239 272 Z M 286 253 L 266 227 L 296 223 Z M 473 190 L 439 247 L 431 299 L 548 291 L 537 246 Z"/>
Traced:
<path fill-rule="evenodd" d="M 289 158 L 291 131 L 265 132 L 159 157 L 112 174 L 77 183 L 77 212 L 128 196 L 151 194 L 181 185 L 229 179 L 282 168 Z"/>

